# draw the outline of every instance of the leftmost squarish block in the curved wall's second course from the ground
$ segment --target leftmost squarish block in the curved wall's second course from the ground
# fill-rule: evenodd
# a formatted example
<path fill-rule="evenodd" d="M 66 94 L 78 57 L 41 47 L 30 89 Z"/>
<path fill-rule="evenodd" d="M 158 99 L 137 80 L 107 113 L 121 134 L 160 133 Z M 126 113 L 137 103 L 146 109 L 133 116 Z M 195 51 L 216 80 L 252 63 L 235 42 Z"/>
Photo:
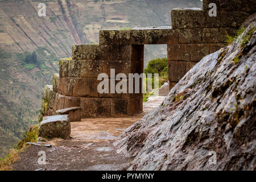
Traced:
<path fill-rule="evenodd" d="M 59 94 L 64 96 L 73 96 L 73 87 L 79 78 L 60 77 Z"/>

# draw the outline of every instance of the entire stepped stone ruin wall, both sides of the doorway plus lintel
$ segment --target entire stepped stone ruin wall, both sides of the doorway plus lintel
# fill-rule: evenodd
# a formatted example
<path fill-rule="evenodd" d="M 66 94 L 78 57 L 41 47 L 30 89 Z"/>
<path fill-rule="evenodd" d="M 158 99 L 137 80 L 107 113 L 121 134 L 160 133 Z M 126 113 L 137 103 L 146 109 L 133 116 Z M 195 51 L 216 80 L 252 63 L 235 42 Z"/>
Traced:
<path fill-rule="evenodd" d="M 216 17 L 208 15 L 212 2 L 217 4 Z M 171 89 L 204 56 L 224 47 L 226 35 L 233 35 L 254 11 L 251 0 L 204 0 L 203 10 L 173 9 L 172 27 L 101 30 L 100 44 L 75 45 L 71 60 L 60 59 L 59 75 L 53 76 L 53 86 L 46 86 L 40 118 L 76 106 L 81 107 L 83 118 L 140 113 L 142 93 L 99 94 L 98 74 L 110 76 L 110 69 L 115 69 L 115 75 L 141 74 L 144 44 L 167 44 Z"/>

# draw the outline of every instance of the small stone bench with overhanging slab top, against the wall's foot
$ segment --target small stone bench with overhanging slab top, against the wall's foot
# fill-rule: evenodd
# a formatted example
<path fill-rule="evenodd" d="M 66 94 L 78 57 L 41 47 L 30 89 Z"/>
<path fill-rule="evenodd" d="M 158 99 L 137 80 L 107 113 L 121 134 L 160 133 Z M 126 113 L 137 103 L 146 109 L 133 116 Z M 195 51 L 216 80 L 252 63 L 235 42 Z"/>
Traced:
<path fill-rule="evenodd" d="M 81 107 L 68 107 L 56 111 L 56 114 L 63 115 L 67 114 L 69 121 L 81 121 Z"/>

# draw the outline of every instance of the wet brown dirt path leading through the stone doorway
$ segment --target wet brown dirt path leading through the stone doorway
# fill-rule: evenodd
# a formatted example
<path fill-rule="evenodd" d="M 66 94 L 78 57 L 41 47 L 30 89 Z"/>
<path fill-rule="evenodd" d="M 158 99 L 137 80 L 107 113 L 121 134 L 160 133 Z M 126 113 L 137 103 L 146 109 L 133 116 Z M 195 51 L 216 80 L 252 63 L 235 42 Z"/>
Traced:
<path fill-rule="evenodd" d="M 83 118 L 71 123 L 71 139 L 52 139 L 43 146 L 29 146 L 19 153 L 14 170 L 121 170 L 131 158 L 115 153 L 113 142 L 127 127 L 155 109 L 164 97 L 143 103 L 144 113 L 122 118 Z M 46 147 L 44 144 L 51 144 Z M 39 151 L 46 152 L 46 164 L 39 164 Z"/>

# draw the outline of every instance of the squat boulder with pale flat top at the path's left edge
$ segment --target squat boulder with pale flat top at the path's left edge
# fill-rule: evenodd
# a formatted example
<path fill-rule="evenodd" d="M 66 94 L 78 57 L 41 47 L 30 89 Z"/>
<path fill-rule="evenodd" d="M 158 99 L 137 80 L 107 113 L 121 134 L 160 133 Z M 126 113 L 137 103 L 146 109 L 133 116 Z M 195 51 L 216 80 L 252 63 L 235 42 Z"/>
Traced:
<path fill-rule="evenodd" d="M 71 125 L 68 115 L 52 115 L 44 117 L 39 125 L 39 137 L 68 139 Z"/>

